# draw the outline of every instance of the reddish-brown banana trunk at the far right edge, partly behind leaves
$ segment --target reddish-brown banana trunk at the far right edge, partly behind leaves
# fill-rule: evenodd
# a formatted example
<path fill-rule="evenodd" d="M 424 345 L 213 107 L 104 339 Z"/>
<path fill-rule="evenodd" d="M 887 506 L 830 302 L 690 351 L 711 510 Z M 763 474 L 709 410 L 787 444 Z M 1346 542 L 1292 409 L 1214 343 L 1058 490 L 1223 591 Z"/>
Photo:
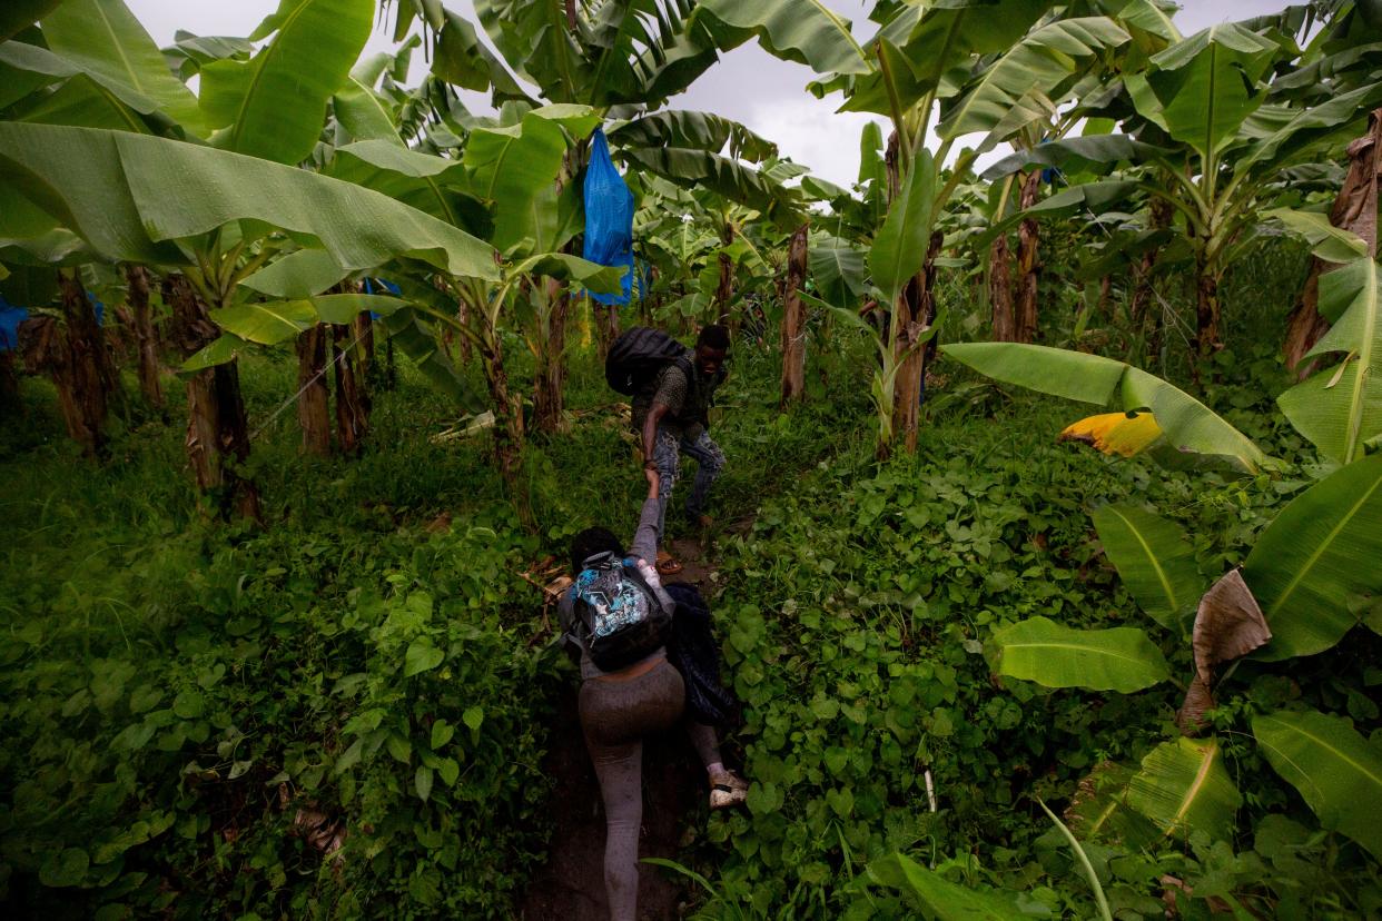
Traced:
<path fill-rule="evenodd" d="M 1368 254 L 1374 258 L 1378 251 L 1379 195 L 1382 195 L 1382 109 L 1375 109 L 1368 115 L 1368 133 L 1349 145 L 1349 174 L 1329 210 L 1329 222 L 1363 237 L 1368 244 Z M 1287 359 L 1287 367 L 1294 370 L 1299 380 L 1314 373 L 1317 360 L 1303 366 L 1300 362 L 1329 331 L 1329 322 L 1320 316 L 1318 309 L 1320 276 L 1335 268 L 1338 268 L 1335 262 L 1325 262 L 1318 257 L 1310 260 L 1310 275 L 1306 278 L 1305 290 L 1287 320 L 1287 337 L 1281 344 L 1281 353 Z"/>

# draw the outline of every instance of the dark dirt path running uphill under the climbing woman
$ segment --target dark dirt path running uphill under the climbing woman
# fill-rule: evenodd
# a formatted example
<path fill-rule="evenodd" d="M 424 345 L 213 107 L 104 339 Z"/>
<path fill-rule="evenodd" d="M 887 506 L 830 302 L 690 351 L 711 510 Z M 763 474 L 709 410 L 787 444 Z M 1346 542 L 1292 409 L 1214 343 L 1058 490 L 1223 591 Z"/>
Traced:
<path fill-rule="evenodd" d="M 714 572 L 708 551 L 694 539 L 668 547 L 684 565 L 674 580 L 691 583 L 706 595 Z M 669 581 L 672 581 L 669 579 Z M 533 874 L 518 902 L 525 921 L 605 921 L 604 805 L 576 715 L 576 696 L 564 695 L 543 762 L 556 779 L 551 797 L 551 845 L 547 863 Z M 676 859 L 687 823 L 705 820 L 705 775 L 680 730 L 652 736 L 643 746 L 643 833 L 640 857 Z M 679 918 L 692 896 L 684 877 L 659 867 L 638 869 L 638 917 L 648 921 Z"/>

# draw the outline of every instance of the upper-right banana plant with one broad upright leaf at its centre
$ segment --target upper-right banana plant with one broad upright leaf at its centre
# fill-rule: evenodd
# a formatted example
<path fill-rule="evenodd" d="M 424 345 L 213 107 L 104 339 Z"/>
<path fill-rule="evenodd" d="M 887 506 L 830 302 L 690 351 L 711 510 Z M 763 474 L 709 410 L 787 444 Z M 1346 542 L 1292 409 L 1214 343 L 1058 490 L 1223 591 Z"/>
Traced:
<path fill-rule="evenodd" d="M 1122 76 L 1104 112 L 1122 119 L 1126 134 L 1043 144 L 984 175 L 1034 166 L 1104 173 L 1119 163 L 1155 167 L 1132 180 L 1177 214 L 1172 226 L 1194 258 L 1197 352 L 1205 359 L 1223 348 L 1223 272 L 1251 242 L 1282 170 L 1328 155 L 1382 102 L 1382 80 L 1353 73 L 1334 80 L 1332 95 L 1318 104 L 1274 95 L 1273 75 L 1299 58 L 1300 50 L 1280 33 L 1212 26 L 1151 55 L 1146 72 Z"/>

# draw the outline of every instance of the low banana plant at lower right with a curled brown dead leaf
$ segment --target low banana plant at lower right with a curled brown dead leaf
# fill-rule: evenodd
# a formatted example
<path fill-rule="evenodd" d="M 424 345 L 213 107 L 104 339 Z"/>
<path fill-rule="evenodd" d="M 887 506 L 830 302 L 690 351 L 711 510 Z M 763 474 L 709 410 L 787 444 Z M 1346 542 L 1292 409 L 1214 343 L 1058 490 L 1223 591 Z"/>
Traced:
<path fill-rule="evenodd" d="M 1365 351 L 1379 316 L 1376 264 L 1357 260 L 1324 280 L 1321 305 L 1338 323 L 1331 331 L 1336 338 L 1321 345 Z M 1266 463 L 1208 407 L 1121 362 L 1012 344 L 951 345 L 947 353 L 998 380 L 1086 402 L 1108 402 L 1121 388 L 1125 410 L 1150 410 L 1154 420 L 1153 436 L 1129 453 L 1164 438 L 1182 450 L 1230 457 L 1244 469 Z M 1372 363 L 1374 355 L 1365 352 L 1361 360 Z M 1372 398 L 1365 391 L 1372 373 L 1345 362 L 1321 374 L 1335 377 L 1343 391 L 1324 394 L 1327 381 L 1312 378 L 1282 395 L 1281 405 L 1289 407 L 1288 421 L 1341 467 L 1282 508 L 1258 534 L 1241 569 L 1208 591 L 1177 526 L 1130 505 L 1093 512 L 1103 550 L 1129 594 L 1191 653 L 1180 711 L 1187 735 L 1200 730 L 1202 714 L 1227 686 L 1227 674 L 1216 681 L 1220 666 L 1245 655 L 1267 663 L 1316 655 L 1360 624 L 1382 632 L 1382 623 L 1361 617 L 1354 603 L 1382 592 L 1382 570 L 1371 563 L 1382 554 L 1382 456 L 1365 454 L 1368 442 L 1382 438 L 1382 418 L 1368 409 Z M 1074 630 L 1034 617 L 996 630 L 987 652 L 996 672 L 1050 688 L 1129 693 L 1172 679 L 1161 646 L 1137 627 Z M 1350 817 L 1357 804 L 1382 804 L 1382 758 L 1354 729 L 1325 714 L 1287 711 L 1255 718 L 1252 730 L 1269 764 L 1300 790 L 1323 827 L 1374 855 L 1382 851 L 1375 826 Z M 1111 784 L 1090 811 L 1099 819 L 1085 834 L 1117 833 L 1129 842 L 1129 830 L 1148 822 L 1162 834 L 1226 834 L 1231 822 L 1224 816 L 1231 819 L 1237 794 L 1222 762 L 1215 768 L 1216 753 L 1212 739 L 1165 743 L 1140 772 Z M 1129 815 L 1108 823 L 1115 812 Z"/>

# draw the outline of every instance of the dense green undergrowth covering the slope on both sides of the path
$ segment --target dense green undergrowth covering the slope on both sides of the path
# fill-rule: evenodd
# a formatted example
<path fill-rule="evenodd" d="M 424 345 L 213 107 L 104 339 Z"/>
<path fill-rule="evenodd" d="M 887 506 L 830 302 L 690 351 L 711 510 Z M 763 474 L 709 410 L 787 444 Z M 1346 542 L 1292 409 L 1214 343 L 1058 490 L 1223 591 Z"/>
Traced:
<path fill-rule="evenodd" d="M 1169 737 L 1179 692 L 995 679 L 984 641 L 1034 614 L 1135 623 L 1089 522 L 1096 503 L 1176 519 L 1205 573 L 1240 562 L 1314 476 L 1271 411 L 1274 353 L 1245 347 L 1209 389 L 1285 464 L 1242 481 L 1057 445 L 1081 407 L 945 363 L 916 456 L 879 465 L 871 359 L 832 336 L 813 341 L 826 358 L 791 413 L 775 406 L 775 356 L 741 347 L 713 428 L 728 468 L 709 595 L 744 701 L 726 750 L 755 783 L 746 811 L 685 817 L 683 862 L 713 891 L 698 910 L 902 915 L 868 874 L 902 852 L 955 882 L 1019 889 L 1036 915 L 1088 917 L 1036 797 L 1059 811 L 1097 765 Z M 532 436 L 518 496 L 484 438 L 434 439 L 460 414 L 404 362 L 397 388 L 376 389 L 359 458 L 299 456 L 293 407 L 274 416 L 293 374 L 286 355 L 243 369 L 263 530 L 207 519 L 176 421 L 135 402 L 94 465 L 46 385 L 25 381 L 25 423 L 0 434 L 0 891 L 21 914 L 510 917 L 546 853 L 551 797 L 596 798 L 558 794 L 542 772 L 575 677 L 524 579 L 564 559 L 576 530 L 634 522 L 632 436 L 593 355 L 575 353 L 571 429 Z M 1189 674 L 1189 650 L 1165 652 Z M 1162 875 L 1197 889 L 1187 917 L 1244 888 L 1298 917 L 1376 907 L 1375 863 L 1310 831 L 1299 798 L 1234 739 L 1288 699 L 1376 730 L 1378 652 L 1359 637 L 1294 681 L 1237 671 L 1219 730 L 1256 835 L 1089 845 L 1118 917 L 1159 917 Z"/>

